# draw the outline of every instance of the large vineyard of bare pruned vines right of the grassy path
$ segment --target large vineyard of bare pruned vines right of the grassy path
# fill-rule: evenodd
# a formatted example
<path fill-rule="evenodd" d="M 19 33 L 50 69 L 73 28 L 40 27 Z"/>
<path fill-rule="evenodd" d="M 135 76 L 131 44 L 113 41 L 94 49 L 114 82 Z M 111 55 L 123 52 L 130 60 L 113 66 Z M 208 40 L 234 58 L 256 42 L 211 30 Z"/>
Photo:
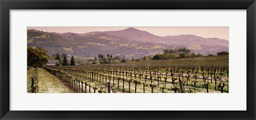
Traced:
<path fill-rule="evenodd" d="M 79 93 L 222 93 L 229 89 L 228 56 L 43 68 Z"/>

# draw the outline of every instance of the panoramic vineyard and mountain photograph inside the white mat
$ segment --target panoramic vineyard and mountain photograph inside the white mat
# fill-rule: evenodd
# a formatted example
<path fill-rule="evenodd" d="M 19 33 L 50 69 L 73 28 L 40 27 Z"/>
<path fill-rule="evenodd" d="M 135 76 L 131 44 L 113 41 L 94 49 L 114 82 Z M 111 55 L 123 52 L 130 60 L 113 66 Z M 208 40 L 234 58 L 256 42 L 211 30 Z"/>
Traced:
<path fill-rule="evenodd" d="M 229 93 L 229 27 L 27 27 L 27 93 Z"/>

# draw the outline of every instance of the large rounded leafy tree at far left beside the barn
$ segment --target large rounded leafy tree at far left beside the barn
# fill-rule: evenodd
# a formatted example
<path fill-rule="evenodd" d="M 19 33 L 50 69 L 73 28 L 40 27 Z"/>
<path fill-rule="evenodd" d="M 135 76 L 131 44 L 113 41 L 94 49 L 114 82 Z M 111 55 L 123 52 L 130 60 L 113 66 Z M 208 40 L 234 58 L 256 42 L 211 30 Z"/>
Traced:
<path fill-rule="evenodd" d="M 28 66 L 43 66 L 50 59 L 47 51 L 42 48 L 27 47 L 27 65 Z"/>

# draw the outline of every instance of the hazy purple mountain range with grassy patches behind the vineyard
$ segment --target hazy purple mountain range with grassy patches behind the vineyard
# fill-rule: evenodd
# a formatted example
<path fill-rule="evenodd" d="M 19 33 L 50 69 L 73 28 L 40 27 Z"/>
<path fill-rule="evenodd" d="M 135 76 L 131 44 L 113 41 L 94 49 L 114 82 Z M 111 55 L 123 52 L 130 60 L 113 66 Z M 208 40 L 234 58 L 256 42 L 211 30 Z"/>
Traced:
<path fill-rule="evenodd" d="M 99 54 L 139 58 L 162 54 L 164 49 L 184 47 L 190 49 L 191 53 L 202 55 L 216 55 L 217 52 L 229 50 L 229 42 L 225 39 L 195 35 L 161 37 L 135 28 L 88 33 L 56 33 L 28 29 L 27 34 L 28 46 L 44 48 L 50 55 L 65 53 L 81 58 L 93 58 Z"/>

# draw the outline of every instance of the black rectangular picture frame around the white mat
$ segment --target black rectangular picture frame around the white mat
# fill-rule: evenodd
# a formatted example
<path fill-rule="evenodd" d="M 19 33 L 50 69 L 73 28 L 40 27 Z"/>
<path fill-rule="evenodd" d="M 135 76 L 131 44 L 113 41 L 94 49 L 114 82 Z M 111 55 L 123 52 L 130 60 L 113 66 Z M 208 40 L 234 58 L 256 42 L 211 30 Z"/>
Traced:
<path fill-rule="evenodd" d="M 0 0 L 0 119 L 256 119 L 255 0 Z M 196 9 L 247 10 L 246 111 L 12 111 L 10 110 L 10 10 Z M 239 23 L 238 23 L 239 24 Z M 239 103 L 237 103 L 239 104 Z"/>

